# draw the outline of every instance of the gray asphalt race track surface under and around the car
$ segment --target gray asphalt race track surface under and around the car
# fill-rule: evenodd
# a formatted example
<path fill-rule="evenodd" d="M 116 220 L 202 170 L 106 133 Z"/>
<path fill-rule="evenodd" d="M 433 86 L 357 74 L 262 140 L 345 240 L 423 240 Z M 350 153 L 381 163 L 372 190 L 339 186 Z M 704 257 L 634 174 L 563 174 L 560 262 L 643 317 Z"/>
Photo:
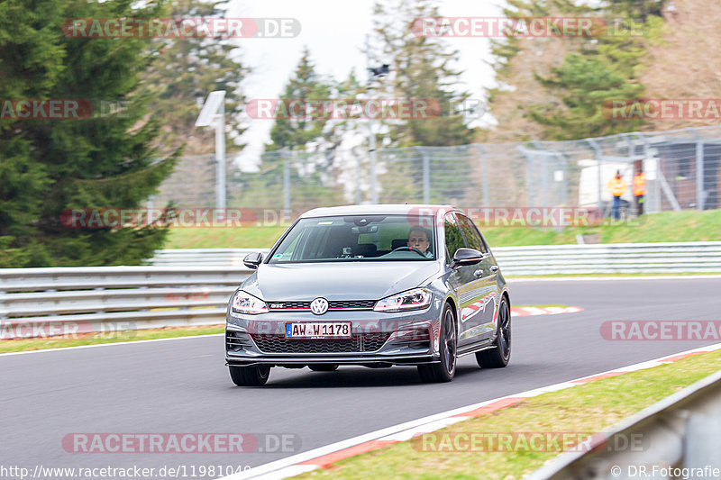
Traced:
<path fill-rule="evenodd" d="M 510 365 L 482 370 L 473 356 L 464 357 L 450 384 L 422 384 L 415 367 L 341 367 L 273 368 L 268 385 L 236 387 L 221 336 L 0 356 L 0 466 L 154 467 L 157 478 L 162 466 L 186 466 L 186 478 L 193 478 L 191 466 L 259 466 L 470 403 L 716 343 L 609 341 L 599 333 L 604 321 L 721 320 L 721 279 L 511 281 L 510 292 L 516 305 L 584 311 L 515 317 Z M 293 434 L 301 447 L 73 454 L 61 441 L 74 432 Z"/>

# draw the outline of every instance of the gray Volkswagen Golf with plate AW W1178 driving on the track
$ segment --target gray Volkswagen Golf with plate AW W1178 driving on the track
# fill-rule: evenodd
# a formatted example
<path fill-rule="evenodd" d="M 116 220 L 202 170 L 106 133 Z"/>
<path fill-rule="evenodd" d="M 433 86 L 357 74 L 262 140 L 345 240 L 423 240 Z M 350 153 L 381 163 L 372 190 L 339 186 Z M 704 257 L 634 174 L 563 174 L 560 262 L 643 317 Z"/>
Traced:
<path fill-rule="evenodd" d="M 496 259 L 452 206 L 353 205 L 304 213 L 228 305 L 226 361 L 236 385 L 271 367 L 417 366 L 451 381 L 456 361 L 506 367 L 510 297 Z"/>

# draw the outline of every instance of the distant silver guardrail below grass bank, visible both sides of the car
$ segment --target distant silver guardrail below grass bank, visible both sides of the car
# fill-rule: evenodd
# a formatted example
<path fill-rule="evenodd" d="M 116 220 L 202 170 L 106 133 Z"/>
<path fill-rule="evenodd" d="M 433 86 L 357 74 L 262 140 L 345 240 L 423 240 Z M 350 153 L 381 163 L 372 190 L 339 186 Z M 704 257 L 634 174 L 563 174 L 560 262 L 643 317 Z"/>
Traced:
<path fill-rule="evenodd" d="M 158 250 L 153 265 L 238 266 L 266 249 Z M 507 275 L 721 272 L 721 241 L 543 245 L 493 249 Z"/>

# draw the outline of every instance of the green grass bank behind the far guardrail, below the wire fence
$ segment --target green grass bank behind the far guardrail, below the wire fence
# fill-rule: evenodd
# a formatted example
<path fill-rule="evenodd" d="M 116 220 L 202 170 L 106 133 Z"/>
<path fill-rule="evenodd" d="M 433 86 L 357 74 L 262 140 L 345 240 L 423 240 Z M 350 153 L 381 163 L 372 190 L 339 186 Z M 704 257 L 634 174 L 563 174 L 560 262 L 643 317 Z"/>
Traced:
<path fill-rule="evenodd" d="M 598 235 L 601 243 L 721 240 L 721 210 L 662 212 L 632 222 L 596 227 L 551 228 L 481 227 L 491 247 L 575 244 L 576 235 Z M 171 229 L 166 249 L 268 249 L 287 224 L 229 228 Z"/>

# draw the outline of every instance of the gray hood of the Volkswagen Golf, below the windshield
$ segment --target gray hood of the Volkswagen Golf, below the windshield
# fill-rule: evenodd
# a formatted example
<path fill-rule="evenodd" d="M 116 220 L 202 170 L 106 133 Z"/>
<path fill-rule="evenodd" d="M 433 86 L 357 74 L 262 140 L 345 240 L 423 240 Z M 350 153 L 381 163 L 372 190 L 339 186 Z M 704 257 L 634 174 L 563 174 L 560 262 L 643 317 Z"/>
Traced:
<path fill-rule="evenodd" d="M 423 285 L 438 262 L 261 264 L 242 289 L 262 300 L 379 300 Z"/>

